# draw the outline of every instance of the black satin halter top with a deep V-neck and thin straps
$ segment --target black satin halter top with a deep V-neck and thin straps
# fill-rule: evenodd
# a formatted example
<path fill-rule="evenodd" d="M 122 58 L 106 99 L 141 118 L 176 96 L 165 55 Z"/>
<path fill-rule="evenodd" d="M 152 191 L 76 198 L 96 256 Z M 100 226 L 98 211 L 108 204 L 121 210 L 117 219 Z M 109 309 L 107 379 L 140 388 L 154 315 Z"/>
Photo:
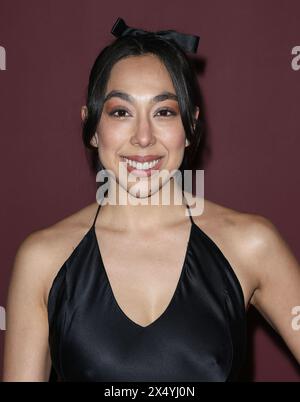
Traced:
<path fill-rule="evenodd" d="M 176 290 L 161 316 L 142 327 L 114 298 L 95 233 L 100 206 L 49 293 L 49 347 L 59 380 L 236 380 L 245 357 L 244 296 L 218 246 L 190 214 Z"/>

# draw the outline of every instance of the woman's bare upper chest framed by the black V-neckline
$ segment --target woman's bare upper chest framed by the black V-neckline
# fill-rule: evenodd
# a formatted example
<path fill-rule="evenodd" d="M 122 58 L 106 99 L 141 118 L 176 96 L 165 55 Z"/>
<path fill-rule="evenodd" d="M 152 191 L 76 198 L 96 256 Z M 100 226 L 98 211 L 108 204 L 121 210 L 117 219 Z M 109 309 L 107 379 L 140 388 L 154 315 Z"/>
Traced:
<path fill-rule="evenodd" d="M 132 321 L 149 325 L 167 308 L 180 281 L 191 224 L 159 236 L 95 233 L 102 269 L 119 307 Z"/>

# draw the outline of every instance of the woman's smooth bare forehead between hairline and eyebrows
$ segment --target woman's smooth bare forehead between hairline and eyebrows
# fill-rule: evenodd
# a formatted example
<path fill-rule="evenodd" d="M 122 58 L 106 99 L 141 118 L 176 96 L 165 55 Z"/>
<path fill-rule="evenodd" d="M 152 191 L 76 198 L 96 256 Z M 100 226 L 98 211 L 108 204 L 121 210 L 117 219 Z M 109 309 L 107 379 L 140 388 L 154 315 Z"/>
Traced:
<path fill-rule="evenodd" d="M 107 90 L 143 89 L 149 92 L 169 90 L 175 93 L 170 74 L 163 62 L 153 54 L 129 56 L 114 64 Z"/>

